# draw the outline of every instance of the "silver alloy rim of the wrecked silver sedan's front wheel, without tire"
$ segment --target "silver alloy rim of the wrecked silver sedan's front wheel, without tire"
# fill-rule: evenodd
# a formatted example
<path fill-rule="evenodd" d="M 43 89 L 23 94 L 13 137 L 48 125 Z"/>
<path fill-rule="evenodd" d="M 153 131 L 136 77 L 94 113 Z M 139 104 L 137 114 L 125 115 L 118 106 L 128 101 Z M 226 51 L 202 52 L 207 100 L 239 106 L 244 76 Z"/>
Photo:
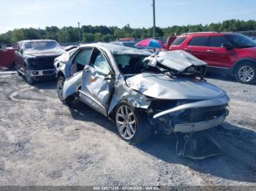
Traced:
<path fill-rule="evenodd" d="M 136 118 L 129 106 L 120 106 L 116 112 L 116 126 L 124 139 L 132 139 L 136 132 Z"/>

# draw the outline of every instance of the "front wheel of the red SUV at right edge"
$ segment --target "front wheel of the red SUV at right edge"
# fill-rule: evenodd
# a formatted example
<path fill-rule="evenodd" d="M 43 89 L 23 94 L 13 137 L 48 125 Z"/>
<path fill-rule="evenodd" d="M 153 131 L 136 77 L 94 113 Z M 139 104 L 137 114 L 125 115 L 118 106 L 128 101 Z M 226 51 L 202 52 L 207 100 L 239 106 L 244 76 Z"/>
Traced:
<path fill-rule="evenodd" d="M 252 84 L 256 79 L 256 65 L 251 62 L 241 63 L 235 71 L 236 80 L 243 84 Z"/>

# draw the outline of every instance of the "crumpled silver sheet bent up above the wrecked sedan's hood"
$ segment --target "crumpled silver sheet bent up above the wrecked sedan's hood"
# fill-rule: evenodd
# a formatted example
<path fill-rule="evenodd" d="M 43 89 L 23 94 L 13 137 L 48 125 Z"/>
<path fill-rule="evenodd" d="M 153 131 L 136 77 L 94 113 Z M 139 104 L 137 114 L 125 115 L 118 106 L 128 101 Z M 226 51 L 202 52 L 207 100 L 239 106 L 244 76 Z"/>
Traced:
<path fill-rule="evenodd" d="M 185 71 L 190 66 L 206 66 L 207 63 L 201 61 L 195 56 L 183 50 L 173 50 L 165 52 L 156 52 L 144 59 L 148 61 L 149 66 L 157 66 L 157 63 L 163 66 L 175 69 L 176 71 Z"/>

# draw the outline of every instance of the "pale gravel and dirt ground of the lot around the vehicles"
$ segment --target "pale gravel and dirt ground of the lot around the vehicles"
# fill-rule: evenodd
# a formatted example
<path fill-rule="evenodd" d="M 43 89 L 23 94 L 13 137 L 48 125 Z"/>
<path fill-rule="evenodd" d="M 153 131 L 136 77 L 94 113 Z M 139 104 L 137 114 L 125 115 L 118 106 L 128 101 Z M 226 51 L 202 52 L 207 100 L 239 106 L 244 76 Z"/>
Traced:
<path fill-rule="evenodd" d="M 230 95 L 230 115 L 212 130 L 224 155 L 176 156 L 176 139 L 138 146 L 85 104 L 57 98 L 55 82 L 27 85 L 0 74 L 0 185 L 255 185 L 256 86 L 208 79 Z"/>

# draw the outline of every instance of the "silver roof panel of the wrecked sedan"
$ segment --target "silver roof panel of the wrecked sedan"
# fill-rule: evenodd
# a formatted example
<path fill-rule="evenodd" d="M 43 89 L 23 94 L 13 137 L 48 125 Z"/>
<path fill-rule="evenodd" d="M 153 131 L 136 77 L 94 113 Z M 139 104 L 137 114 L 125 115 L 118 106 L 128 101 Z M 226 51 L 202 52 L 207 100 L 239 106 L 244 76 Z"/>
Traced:
<path fill-rule="evenodd" d="M 148 52 L 146 50 L 139 50 L 133 47 L 125 47 L 125 46 L 120 46 L 118 44 L 105 43 L 105 42 L 84 44 L 84 45 L 81 45 L 81 47 L 98 47 L 98 48 L 109 50 L 113 54 L 151 55 L 151 52 Z"/>

